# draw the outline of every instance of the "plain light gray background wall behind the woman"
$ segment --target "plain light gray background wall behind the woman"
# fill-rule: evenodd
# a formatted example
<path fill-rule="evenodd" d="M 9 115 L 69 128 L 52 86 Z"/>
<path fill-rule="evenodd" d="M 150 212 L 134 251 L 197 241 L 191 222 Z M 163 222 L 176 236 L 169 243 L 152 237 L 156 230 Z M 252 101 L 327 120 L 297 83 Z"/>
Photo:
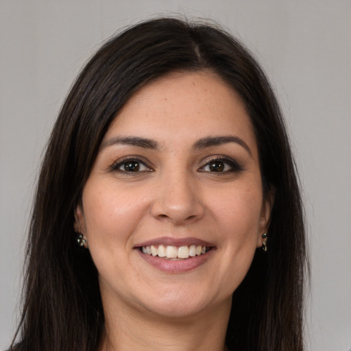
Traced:
<path fill-rule="evenodd" d="M 351 348 L 350 0 L 0 0 L 0 349 L 16 325 L 40 157 L 80 67 L 152 14 L 210 18 L 263 64 L 287 118 L 311 250 L 308 350 Z"/>

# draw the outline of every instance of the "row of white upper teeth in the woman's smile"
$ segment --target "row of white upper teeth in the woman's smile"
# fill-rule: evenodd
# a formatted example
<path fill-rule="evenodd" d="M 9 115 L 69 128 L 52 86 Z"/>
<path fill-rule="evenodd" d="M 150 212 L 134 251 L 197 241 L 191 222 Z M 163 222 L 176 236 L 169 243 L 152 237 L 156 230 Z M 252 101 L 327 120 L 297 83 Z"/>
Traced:
<path fill-rule="evenodd" d="M 165 245 L 151 245 L 143 246 L 141 250 L 144 254 L 166 257 L 166 258 L 189 258 L 206 254 L 206 246 L 190 245 L 190 246 L 165 246 Z"/>

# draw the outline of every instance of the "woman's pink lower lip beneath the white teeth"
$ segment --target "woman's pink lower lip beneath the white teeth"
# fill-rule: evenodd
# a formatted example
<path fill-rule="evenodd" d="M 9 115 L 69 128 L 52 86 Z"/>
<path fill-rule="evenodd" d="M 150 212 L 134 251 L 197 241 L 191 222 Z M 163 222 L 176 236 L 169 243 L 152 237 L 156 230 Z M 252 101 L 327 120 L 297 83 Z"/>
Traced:
<path fill-rule="evenodd" d="M 206 261 L 212 256 L 214 249 L 195 257 L 189 257 L 179 261 L 167 260 L 165 258 L 160 258 L 158 256 L 152 256 L 144 254 L 141 250 L 138 250 L 141 258 L 143 258 L 149 265 L 159 269 L 160 271 L 165 271 L 167 273 L 185 273 L 187 271 L 192 271 L 201 265 L 204 265 Z"/>

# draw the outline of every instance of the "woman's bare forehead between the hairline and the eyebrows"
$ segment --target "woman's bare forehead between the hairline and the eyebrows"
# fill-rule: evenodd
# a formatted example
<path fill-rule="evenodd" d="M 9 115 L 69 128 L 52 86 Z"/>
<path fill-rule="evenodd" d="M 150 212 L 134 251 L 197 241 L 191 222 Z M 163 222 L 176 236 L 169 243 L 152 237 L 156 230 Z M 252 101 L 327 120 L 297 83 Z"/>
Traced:
<path fill-rule="evenodd" d="M 131 134 L 154 138 L 160 145 L 234 134 L 256 149 L 241 98 L 210 71 L 171 73 L 143 86 L 117 114 L 104 139 Z"/>

